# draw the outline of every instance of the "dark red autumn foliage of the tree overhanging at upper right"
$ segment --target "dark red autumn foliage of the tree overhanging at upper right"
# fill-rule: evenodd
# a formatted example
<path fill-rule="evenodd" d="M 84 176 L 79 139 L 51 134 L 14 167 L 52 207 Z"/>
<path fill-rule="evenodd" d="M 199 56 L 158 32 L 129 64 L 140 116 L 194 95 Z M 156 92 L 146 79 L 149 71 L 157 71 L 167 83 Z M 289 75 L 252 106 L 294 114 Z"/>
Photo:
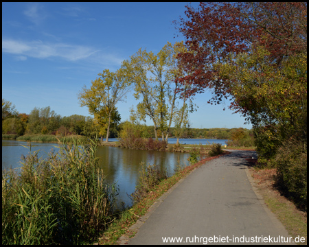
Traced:
<path fill-rule="evenodd" d="M 231 55 L 249 53 L 252 46 L 262 45 L 271 53 L 269 62 L 277 66 L 284 58 L 307 51 L 306 3 L 200 3 L 197 10 L 186 8 L 187 19 L 174 21 L 188 50 L 179 54 L 187 72 L 179 80 L 194 85 L 185 97 L 213 89 L 209 103 L 233 99 L 231 78 L 220 78 L 214 64 L 233 63 Z M 247 114 L 235 101 L 230 108 Z"/>

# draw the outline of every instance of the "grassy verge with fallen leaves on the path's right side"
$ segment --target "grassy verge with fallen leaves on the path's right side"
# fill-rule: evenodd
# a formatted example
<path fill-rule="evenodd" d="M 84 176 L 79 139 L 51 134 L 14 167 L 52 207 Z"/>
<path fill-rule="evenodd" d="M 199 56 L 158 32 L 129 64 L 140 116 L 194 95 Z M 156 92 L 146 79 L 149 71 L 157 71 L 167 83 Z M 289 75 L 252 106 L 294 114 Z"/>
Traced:
<path fill-rule="evenodd" d="M 249 173 L 255 180 L 259 193 L 267 207 L 282 222 L 292 237 L 305 237 L 307 244 L 307 213 L 297 209 L 295 204 L 275 188 L 276 169 L 251 168 Z"/>

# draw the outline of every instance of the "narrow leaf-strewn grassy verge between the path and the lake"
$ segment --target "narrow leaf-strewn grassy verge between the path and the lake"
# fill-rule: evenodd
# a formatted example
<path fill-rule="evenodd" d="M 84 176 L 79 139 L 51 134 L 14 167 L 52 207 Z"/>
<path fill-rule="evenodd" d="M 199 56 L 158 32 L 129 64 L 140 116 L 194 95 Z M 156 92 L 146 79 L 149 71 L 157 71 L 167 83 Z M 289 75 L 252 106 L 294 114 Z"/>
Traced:
<path fill-rule="evenodd" d="M 196 169 L 196 167 L 203 165 L 206 161 L 211 161 L 212 159 L 218 158 L 219 156 L 227 153 L 228 152 L 225 152 L 218 156 L 205 158 L 194 165 L 187 166 L 184 169 L 179 169 L 179 172 L 176 172 L 173 176 L 161 180 L 161 182 L 155 185 L 151 191 L 148 191 L 145 198 L 141 199 L 137 204 L 134 204 L 130 209 L 123 211 L 119 215 L 119 218 L 115 220 L 115 222 L 113 222 L 102 234 L 102 237 L 98 239 L 97 244 L 117 244 L 117 240 L 122 235 L 126 235 L 126 237 L 133 237 L 135 232 L 129 230 L 130 226 L 135 224 L 139 217 L 145 215 L 152 204 L 160 196 L 162 196 L 163 193 L 168 191 L 168 189 L 179 182 L 179 180 L 185 178 L 188 174 L 190 174 L 190 172 Z"/>

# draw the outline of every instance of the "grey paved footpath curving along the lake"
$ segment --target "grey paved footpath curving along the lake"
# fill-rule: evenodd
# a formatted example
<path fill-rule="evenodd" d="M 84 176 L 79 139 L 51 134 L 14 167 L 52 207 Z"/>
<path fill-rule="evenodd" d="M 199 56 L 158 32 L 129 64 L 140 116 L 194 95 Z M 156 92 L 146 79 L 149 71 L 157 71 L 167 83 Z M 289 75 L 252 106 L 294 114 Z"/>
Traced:
<path fill-rule="evenodd" d="M 168 193 L 144 224 L 139 222 L 135 237 L 122 244 L 242 244 L 233 243 L 233 239 L 250 241 L 244 244 L 275 244 L 272 242 L 278 238 L 277 244 L 287 241 L 290 236 L 286 229 L 266 208 L 247 176 L 245 158 L 255 152 L 229 151 L 231 154 L 195 169 Z M 178 239 L 174 243 L 163 242 L 164 237 Z M 267 243 L 261 237 L 266 237 Z"/>

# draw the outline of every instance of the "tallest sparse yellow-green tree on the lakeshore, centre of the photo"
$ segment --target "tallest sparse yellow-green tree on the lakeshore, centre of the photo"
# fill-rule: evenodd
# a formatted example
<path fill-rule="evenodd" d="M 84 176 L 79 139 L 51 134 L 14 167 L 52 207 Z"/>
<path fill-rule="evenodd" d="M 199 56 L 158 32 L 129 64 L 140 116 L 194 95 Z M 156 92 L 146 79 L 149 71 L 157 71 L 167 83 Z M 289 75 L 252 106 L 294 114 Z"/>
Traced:
<path fill-rule="evenodd" d="M 176 99 L 183 86 L 176 78 L 181 70 L 176 66 L 176 55 L 184 51 L 183 43 L 166 44 L 158 54 L 141 50 L 123 62 L 129 80 L 135 84 L 135 98 L 140 119 L 150 117 L 154 124 L 155 138 L 158 131 L 162 140 L 168 140 Z"/>

